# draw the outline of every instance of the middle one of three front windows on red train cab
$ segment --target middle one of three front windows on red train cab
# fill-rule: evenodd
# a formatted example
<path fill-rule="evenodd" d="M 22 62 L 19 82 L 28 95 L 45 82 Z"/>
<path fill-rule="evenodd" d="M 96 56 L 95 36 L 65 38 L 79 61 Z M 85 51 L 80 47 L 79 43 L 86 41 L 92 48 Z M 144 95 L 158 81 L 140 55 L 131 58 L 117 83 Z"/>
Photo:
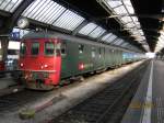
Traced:
<path fill-rule="evenodd" d="M 38 42 L 32 43 L 31 54 L 38 55 L 38 53 L 39 53 L 39 43 Z"/>

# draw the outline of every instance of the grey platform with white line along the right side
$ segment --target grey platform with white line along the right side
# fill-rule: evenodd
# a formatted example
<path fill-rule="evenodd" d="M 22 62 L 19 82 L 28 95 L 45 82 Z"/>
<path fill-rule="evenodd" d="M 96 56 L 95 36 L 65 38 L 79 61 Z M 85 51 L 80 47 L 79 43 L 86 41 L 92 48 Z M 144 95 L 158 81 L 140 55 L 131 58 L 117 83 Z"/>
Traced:
<path fill-rule="evenodd" d="M 152 60 L 121 123 L 164 122 L 164 62 Z"/>

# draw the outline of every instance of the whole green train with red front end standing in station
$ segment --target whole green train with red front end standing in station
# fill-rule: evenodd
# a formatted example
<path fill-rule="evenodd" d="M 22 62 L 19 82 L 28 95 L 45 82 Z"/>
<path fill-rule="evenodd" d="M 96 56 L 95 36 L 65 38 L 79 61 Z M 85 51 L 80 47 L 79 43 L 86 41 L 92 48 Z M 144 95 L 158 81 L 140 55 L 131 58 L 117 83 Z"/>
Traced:
<path fill-rule="evenodd" d="M 141 53 L 52 32 L 30 32 L 21 40 L 19 70 L 30 89 L 51 90 L 72 77 L 142 59 Z"/>

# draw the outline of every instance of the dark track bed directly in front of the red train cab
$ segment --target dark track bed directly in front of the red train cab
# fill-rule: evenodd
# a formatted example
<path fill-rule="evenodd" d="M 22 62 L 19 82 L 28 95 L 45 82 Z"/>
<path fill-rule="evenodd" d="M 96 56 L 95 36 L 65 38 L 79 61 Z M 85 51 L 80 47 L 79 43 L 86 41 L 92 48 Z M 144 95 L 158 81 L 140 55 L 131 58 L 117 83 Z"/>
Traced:
<path fill-rule="evenodd" d="M 11 113 L 20 110 L 20 108 L 27 107 L 33 101 L 44 97 L 46 92 L 22 90 L 16 93 L 0 97 L 0 115 L 3 113 Z"/>

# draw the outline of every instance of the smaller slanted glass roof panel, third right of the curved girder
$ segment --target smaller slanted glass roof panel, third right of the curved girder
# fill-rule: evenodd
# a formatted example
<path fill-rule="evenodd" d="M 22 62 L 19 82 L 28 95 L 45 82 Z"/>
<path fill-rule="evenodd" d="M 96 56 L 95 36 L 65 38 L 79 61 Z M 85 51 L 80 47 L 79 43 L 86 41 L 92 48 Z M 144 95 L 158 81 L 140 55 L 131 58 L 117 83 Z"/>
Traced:
<path fill-rule="evenodd" d="M 94 29 L 96 29 L 97 25 L 95 23 L 89 23 L 85 26 L 83 26 L 79 33 L 83 35 L 89 35 Z"/>

